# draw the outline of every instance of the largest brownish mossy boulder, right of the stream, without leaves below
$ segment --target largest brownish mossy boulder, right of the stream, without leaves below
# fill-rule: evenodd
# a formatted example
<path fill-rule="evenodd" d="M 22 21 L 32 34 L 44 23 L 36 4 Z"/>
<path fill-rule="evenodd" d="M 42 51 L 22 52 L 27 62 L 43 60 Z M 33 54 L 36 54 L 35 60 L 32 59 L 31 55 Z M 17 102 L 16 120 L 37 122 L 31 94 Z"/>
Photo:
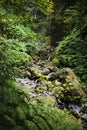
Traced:
<path fill-rule="evenodd" d="M 70 68 L 63 68 L 58 73 L 59 81 L 61 81 L 63 88 L 66 90 L 66 96 L 77 96 L 80 98 L 84 95 L 81 85 L 77 79 L 77 76 Z M 76 98 L 76 97 L 75 97 Z"/>

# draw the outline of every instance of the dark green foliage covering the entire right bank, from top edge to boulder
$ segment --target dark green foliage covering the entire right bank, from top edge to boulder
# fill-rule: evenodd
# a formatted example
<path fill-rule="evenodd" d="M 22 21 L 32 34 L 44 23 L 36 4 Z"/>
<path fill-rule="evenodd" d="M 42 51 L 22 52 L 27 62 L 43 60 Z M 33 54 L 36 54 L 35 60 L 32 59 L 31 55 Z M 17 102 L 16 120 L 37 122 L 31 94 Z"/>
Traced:
<path fill-rule="evenodd" d="M 54 62 L 58 67 L 70 67 L 87 83 L 87 11 L 85 1 L 65 10 L 67 36 L 58 42 Z M 86 89 L 85 89 L 86 90 Z"/>

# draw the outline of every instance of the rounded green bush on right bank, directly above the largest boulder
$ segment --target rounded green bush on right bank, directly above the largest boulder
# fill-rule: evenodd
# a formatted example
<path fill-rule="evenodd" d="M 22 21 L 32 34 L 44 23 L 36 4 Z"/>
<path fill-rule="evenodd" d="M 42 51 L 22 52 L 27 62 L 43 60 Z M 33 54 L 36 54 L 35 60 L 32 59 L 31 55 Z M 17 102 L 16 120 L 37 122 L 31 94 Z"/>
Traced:
<path fill-rule="evenodd" d="M 82 40 L 77 34 L 71 34 L 60 42 L 56 49 L 54 63 L 58 67 L 70 67 L 81 81 L 87 83 L 87 39 Z M 87 90 L 86 90 L 87 91 Z"/>

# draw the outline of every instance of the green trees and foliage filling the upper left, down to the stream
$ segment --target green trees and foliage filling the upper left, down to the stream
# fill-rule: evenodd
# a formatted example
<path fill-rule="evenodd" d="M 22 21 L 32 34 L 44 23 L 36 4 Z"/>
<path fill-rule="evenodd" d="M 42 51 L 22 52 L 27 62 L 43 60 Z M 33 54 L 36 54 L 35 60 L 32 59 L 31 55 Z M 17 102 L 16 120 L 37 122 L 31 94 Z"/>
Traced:
<path fill-rule="evenodd" d="M 31 56 L 45 42 L 47 20 L 41 21 L 51 13 L 52 6 L 49 0 L 0 1 L 1 79 L 11 78 L 17 67 L 29 65 Z"/>

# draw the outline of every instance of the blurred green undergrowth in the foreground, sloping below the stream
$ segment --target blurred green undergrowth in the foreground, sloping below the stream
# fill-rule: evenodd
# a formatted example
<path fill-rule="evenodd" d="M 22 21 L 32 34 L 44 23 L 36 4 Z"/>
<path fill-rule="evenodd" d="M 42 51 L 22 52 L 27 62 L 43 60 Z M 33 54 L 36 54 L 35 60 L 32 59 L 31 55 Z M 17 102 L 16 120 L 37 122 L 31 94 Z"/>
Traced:
<path fill-rule="evenodd" d="M 32 104 L 30 98 L 17 86 L 8 82 L 0 86 L 1 130 L 82 130 L 81 124 L 66 110 L 56 110 Z"/>

